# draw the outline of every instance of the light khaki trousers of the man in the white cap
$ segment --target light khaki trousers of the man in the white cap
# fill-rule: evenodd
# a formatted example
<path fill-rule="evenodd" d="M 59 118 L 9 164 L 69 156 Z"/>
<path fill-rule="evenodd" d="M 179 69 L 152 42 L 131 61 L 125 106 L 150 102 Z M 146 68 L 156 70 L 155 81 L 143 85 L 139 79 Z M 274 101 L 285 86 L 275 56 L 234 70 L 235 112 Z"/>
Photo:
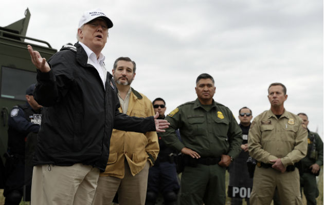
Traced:
<path fill-rule="evenodd" d="M 33 205 L 91 205 L 99 169 L 76 163 L 62 167 L 34 166 L 31 184 Z"/>

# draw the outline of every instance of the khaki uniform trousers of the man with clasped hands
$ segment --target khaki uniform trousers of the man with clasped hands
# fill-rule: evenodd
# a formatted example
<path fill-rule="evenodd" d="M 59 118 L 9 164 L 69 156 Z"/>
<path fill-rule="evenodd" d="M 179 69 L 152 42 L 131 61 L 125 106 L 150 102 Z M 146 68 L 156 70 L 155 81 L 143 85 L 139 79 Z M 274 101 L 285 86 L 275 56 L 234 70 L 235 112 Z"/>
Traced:
<path fill-rule="evenodd" d="M 278 188 L 280 204 L 301 205 L 299 190 L 299 171 L 281 173 L 272 168 L 256 167 L 253 188 L 250 197 L 251 205 L 271 204 L 275 189 Z"/>

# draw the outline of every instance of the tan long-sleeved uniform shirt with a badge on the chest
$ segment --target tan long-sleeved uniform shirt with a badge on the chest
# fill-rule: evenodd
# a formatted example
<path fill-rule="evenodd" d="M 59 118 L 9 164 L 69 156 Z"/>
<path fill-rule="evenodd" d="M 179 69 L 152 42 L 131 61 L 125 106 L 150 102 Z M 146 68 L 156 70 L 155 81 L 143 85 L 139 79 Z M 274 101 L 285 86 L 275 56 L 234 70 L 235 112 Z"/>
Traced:
<path fill-rule="evenodd" d="M 307 129 L 300 117 L 287 111 L 279 119 L 271 110 L 264 111 L 253 120 L 248 136 L 250 156 L 264 163 L 281 158 L 287 167 L 307 153 Z"/>

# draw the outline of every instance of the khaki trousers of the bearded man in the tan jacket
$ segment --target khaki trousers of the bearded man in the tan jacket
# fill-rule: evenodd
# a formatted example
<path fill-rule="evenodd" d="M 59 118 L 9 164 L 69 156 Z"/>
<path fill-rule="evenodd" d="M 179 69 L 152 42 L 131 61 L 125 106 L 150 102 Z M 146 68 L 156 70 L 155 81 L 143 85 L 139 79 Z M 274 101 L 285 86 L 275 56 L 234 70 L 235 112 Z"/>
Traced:
<path fill-rule="evenodd" d="M 120 205 L 144 205 L 148 187 L 149 162 L 135 176 L 132 175 L 127 162 L 123 179 L 113 176 L 100 176 L 93 205 L 111 205 L 118 192 Z"/>

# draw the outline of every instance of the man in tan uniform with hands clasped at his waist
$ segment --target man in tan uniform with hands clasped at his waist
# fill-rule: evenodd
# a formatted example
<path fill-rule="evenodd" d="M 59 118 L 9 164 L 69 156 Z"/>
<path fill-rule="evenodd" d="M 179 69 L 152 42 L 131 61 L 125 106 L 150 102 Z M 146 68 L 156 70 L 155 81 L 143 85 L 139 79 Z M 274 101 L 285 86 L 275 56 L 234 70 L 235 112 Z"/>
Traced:
<path fill-rule="evenodd" d="M 248 135 L 250 156 L 258 160 L 250 203 L 270 204 L 277 187 L 281 204 L 302 204 L 295 163 L 306 156 L 307 129 L 300 117 L 284 109 L 283 84 L 271 84 L 268 99 L 270 110 L 254 119 Z"/>

